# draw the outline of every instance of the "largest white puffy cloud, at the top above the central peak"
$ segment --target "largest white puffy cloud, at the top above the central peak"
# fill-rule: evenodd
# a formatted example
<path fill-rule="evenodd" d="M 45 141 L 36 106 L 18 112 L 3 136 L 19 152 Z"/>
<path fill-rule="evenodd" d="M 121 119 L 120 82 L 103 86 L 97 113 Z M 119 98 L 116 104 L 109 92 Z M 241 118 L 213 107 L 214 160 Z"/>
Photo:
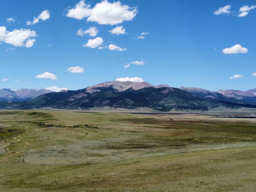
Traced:
<path fill-rule="evenodd" d="M 87 21 L 95 21 L 102 25 L 116 25 L 132 20 L 138 12 L 136 7 L 122 5 L 119 1 L 109 3 L 108 0 L 103 0 L 92 9 L 90 7 L 82 0 L 73 9 L 69 9 L 66 16 L 78 20 L 87 17 Z"/>

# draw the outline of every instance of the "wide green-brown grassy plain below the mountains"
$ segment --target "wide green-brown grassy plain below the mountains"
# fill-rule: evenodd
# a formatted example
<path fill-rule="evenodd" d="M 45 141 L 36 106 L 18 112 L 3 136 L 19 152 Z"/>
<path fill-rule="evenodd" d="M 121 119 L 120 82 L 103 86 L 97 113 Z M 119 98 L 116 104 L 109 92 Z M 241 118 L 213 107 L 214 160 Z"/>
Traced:
<path fill-rule="evenodd" d="M 255 119 L 2 111 L 0 191 L 256 191 L 255 150 Z"/>

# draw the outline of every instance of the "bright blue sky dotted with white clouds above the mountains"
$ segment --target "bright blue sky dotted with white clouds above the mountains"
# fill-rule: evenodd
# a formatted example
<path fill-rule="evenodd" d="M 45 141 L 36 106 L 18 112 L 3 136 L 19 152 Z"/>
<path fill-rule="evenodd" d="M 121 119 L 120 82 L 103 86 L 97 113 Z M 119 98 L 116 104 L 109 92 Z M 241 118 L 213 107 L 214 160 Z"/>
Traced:
<path fill-rule="evenodd" d="M 211 91 L 253 89 L 255 4 L 3 1 L 0 88 L 77 90 L 129 77 Z"/>

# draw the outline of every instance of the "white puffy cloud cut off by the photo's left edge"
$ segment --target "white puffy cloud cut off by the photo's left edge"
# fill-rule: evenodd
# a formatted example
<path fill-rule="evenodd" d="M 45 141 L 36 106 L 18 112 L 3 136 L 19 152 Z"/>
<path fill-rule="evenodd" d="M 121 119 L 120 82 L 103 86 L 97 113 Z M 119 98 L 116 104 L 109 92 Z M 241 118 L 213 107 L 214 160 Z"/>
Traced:
<path fill-rule="evenodd" d="M 35 39 L 31 37 L 36 37 L 36 32 L 30 29 L 14 29 L 13 31 L 6 31 L 6 27 L 0 26 L 0 43 L 4 42 L 7 44 L 12 44 L 15 47 L 25 46 L 32 47 Z M 24 44 L 26 42 L 26 44 Z"/>

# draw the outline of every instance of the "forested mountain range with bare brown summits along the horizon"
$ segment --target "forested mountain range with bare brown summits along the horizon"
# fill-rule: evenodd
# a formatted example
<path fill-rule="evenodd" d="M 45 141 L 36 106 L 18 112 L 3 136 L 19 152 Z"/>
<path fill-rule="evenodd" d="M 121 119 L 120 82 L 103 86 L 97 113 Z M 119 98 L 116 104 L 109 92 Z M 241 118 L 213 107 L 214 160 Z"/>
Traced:
<path fill-rule="evenodd" d="M 15 92 L 10 89 L 2 90 L 5 92 Z M 0 107 L 88 109 L 108 106 L 130 109 L 147 107 L 161 111 L 214 110 L 223 106 L 228 108 L 256 108 L 256 89 L 245 92 L 239 90 L 219 90 L 213 92 L 192 87 L 155 86 L 147 82 L 111 81 L 76 91 L 45 91 L 48 93 L 44 93 L 44 91 L 41 90 L 42 94 L 36 97 L 36 93 L 39 93 L 39 90 L 30 91 L 31 95 L 28 94 L 29 91 L 27 90 L 27 94 L 20 94 L 23 95 L 20 98 L 23 102 L 8 104 L 0 102 Z M 18 95 L 18 90 L 15 93 Z M 8 98 L 8 95 L 5 95 L 6 97 Z M 0 98 L 3 97 L 1 96 Z M 31 99 L 29 100 L 28 98 Z M 12 101 L 14 100 L 12 99 Z M 16 101 L 19 100 L 17 99 Z"/>

